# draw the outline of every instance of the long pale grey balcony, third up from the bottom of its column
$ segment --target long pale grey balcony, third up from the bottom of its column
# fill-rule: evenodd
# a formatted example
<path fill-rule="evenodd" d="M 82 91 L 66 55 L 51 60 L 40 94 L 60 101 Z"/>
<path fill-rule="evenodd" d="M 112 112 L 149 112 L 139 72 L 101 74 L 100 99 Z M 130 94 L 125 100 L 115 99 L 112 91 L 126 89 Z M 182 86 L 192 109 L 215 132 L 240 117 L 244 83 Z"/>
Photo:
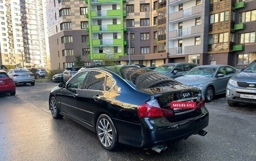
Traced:
<path fill-rule="evenodd" d="M 170 13 L 168 21 L 174 24 L 181 21 L 195 19 L 196 17 L 199 17 L 200 15 L 202 15 L 203 10 L 204 8 L 202 4 L 200 4 L 198 6 L 194 6 L 186 10 Z"/>

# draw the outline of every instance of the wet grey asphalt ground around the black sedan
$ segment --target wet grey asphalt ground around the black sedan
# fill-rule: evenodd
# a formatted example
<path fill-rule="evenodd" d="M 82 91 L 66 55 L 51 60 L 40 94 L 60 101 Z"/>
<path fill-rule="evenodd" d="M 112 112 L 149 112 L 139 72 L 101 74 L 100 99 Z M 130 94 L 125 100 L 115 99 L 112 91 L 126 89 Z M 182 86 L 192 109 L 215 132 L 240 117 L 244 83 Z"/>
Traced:
<path fill-rule="evenodd" d="M 18 85 L 0 95 L 0 160 L 256 160 L 256 106 L 229 107 L 225 95 L 206 106 L 208 134 L 168 145 L 162 153 L 120 145 L 104 150 L 97 136 L 68 118 L 53 119 L 48 95 L 58 84 Z"/>

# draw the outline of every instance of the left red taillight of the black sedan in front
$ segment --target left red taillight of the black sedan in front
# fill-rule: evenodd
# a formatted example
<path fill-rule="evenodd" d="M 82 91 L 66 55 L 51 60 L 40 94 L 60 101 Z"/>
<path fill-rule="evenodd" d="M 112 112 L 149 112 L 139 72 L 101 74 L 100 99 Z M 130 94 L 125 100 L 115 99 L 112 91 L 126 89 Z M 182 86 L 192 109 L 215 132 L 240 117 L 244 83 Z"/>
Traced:
<path fill-rule="evenodd" d="M 138 105 L 137 110 L 139 117 L 173 116 L 171 109 L 162 109 L 156 99 Z"/>

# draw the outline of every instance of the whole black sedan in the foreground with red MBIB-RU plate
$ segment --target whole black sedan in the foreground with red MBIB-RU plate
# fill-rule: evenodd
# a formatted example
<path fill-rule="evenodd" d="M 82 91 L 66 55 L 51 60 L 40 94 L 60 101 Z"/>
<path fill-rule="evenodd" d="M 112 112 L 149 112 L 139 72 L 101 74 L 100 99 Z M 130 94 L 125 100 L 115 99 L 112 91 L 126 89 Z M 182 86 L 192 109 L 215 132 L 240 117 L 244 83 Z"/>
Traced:
<path fill-rule="evenodd" d="M 200 89 L 129 66 L 85 69 L 49 94 L 53 118 L 65 116 L 96 132 L 107 150 L 121 143 L 159 152 L 169 142 L 204 136 L 209 121 L 204 104 Z"/>

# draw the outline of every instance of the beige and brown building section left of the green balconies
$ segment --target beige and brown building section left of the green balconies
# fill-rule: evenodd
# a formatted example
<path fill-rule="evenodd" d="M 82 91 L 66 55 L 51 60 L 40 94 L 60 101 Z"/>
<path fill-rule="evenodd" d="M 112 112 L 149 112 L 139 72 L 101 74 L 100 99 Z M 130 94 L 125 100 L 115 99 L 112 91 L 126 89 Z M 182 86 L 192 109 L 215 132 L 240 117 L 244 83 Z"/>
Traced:
<path fill-rule="evenodd" d="M 86 14 L 88 7 L 85 1 L 47 1 L 52 70 L 74 66 L 75 56 L 81 56 L 85 65 L 91 65 Z"/>

